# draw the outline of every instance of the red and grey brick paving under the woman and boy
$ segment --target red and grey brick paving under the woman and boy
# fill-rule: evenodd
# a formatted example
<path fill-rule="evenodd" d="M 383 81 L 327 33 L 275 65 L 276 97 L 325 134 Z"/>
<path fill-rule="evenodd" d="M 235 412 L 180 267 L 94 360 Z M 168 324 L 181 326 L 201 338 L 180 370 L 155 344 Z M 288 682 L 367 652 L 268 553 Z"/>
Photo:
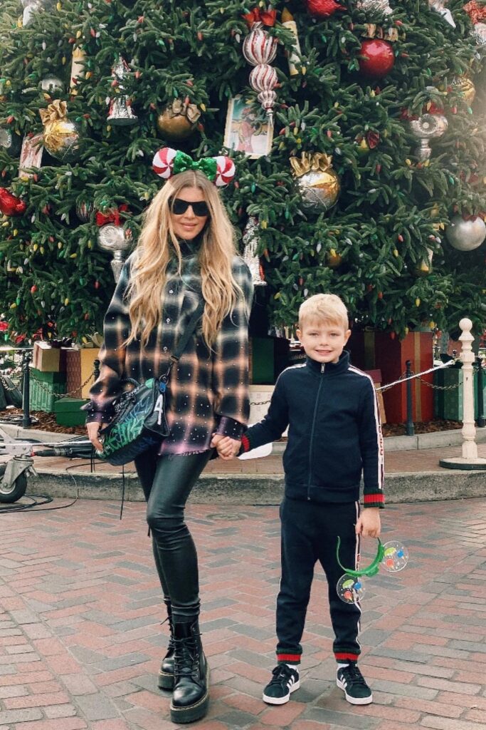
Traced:
<path fill-rule="evenodd" d="M 55 500 L 59 507 L 66 500 Z M 374 704 L 334 684 L 325 584 L 316 576 L 302 687 L 260 696 L 274 658 L 276 507 L 191 506 L 199 549 L 208 717 L 197 730 L 486 730 L 486 503 L 391 506 L 385 539 L 411 561 L 369 579 L 361 669 Z M 144 505 L 80 501 L 0 515 L 0 729 L 167 730 L 160 626 Z M 369 542 L 369 553 L 375 548 Z"/>

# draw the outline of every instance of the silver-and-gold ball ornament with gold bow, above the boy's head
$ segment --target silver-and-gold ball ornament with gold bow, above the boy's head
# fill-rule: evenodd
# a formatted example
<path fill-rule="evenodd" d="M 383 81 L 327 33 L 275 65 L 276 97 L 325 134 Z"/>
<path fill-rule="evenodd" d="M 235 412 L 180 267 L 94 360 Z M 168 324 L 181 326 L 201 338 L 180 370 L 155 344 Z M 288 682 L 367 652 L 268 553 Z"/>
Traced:
<path fill-rule="evenodd" d="M 340 179 L 332 169 L 332 158 L 323 153 L 302 153 L 291 157 L 290 163 L 297 178 L 303 207 L 316 215 L 330 210 L 340 194 Z"/>

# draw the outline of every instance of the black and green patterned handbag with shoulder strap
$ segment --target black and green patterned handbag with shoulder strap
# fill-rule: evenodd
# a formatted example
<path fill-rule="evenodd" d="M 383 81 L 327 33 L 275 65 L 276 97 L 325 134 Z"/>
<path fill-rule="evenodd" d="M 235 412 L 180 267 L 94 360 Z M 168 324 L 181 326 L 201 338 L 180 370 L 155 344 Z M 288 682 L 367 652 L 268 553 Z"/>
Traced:
<path fill-rule="evenodd" d="M 160 445 L 162 439 L 170 434 L 165 413 L 171 370 L 194 334 L 203 310 L 204 301 L 201 301 L 162 377 L 152 377 L 145 383 L 137 383 L 133 378 L 122 380 L 123 387 L 128 385 L 132 388 L 124 390 L 114 401 L 114 417 L 106 429 L 100 431 L 103 451 L 96 454 L 103 461 L 115 466 L 128 464 L 144 451 Z"/>

